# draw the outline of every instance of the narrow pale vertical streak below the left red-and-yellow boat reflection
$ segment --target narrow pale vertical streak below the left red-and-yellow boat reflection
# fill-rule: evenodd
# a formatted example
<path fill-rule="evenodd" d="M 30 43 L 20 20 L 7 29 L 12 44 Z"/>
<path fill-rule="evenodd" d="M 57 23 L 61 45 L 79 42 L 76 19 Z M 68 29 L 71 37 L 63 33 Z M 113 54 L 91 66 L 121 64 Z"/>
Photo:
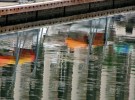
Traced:
<path fill-rule="evenodd" d="M 14 87 L 14 100 L 20 100 L 21 94 L 21 66 L 16 67 L 15 87 Z"/>

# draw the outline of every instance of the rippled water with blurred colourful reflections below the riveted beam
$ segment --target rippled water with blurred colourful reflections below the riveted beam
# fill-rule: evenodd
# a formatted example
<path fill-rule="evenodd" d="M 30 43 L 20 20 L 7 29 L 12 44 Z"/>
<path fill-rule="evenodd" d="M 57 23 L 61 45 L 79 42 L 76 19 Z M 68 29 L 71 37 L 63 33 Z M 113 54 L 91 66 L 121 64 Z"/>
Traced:
<path fill-rule="evenodd" d="M 1 100 L 134 100 L 134 13 L 0 36 Z"/>

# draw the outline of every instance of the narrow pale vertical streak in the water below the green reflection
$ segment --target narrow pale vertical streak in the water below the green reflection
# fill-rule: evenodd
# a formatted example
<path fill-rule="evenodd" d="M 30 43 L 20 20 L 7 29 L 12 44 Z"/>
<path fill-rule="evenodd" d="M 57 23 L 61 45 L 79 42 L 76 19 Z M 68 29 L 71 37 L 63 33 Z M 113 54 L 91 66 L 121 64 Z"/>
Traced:
<path fill-rule="evenodd" d="M 107 71 L 106 69 L 102 69 L 101 73 L 101 85 L 100 85 L 100 100 L 108 100 L 106 95 L 107 88 Z"/>

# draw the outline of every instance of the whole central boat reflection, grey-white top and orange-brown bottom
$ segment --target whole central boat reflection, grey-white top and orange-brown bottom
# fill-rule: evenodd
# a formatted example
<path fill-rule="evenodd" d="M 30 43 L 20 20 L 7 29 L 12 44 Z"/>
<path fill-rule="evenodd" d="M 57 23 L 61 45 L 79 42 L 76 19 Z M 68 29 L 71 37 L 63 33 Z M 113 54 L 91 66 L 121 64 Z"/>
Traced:
<path fill-rule="evenodd" d="M 103 46 L 108 34 L 107 25 L 110 22 L 110 18 L 101 18 L 74 23 L 69 28 L 65 43 L 71 49 L 86 48 L 89 44 L 93 47 Z"/>

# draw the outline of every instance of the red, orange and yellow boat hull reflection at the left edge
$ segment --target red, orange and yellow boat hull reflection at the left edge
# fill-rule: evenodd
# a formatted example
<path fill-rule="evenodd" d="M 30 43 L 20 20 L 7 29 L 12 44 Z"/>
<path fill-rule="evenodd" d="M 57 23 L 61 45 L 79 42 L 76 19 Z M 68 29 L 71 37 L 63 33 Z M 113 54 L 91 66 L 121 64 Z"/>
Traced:
<path fill-rule="evenodd" d="M 33 50 L 21 49 L 18 64 L 24 64 L 27 62 L 33 62 L 35 60 L 35 53 Z M 8 64 L 16 64 L 15 56 L 0 56 L 0 66 L 6 66 Z"/>

